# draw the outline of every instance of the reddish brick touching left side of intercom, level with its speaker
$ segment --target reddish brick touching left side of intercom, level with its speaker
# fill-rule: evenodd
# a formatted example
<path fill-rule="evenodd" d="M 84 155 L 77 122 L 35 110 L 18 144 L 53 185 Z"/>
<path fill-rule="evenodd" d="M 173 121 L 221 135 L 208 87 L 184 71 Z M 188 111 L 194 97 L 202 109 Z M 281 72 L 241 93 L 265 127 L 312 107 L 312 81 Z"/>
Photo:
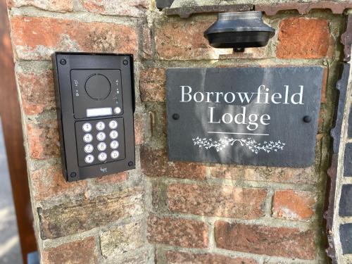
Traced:
<path fill-rule="evenodd" d="M 54 81 L 51 70 L 39 73 L 18 73 L 18 87 L 26 115 L 35 115 L 55 108 Z"/>

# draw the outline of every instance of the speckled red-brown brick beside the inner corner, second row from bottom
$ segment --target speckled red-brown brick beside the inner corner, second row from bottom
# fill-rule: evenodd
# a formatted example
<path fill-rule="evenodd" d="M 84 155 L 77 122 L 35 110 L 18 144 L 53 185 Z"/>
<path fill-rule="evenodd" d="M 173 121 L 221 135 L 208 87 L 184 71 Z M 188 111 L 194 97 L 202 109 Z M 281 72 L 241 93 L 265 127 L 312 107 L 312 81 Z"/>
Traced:
<path fill-rule="evenodd" d="M 148 220 L 148 239 L 157 244 L 206 248 L 208 226 L 205 222 L 195 220 L 151 216 Z"/>

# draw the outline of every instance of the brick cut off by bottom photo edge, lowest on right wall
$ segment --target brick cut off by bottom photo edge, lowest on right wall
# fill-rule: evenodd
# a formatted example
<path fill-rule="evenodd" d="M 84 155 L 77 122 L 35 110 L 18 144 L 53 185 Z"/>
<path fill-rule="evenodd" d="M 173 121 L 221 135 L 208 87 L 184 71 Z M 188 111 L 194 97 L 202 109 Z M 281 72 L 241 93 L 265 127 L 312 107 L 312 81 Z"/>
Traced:
<path fill-rule="evenodd" d="M 230 258 L 210 253 L 194 254 L 185 252 L 166 252 L 168 264 L 256 264 L 256 260 L 250 258 Z"/>

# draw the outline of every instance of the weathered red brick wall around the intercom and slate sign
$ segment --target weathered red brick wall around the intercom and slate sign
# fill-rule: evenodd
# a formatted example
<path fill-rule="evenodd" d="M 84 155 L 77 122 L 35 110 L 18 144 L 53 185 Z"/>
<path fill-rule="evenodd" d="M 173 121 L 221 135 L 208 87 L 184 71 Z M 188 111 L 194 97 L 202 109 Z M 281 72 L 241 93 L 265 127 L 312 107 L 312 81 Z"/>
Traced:
<path fill-rule="evenodd" d="M 8 0 L 8 11 L 42 263 L 327 262 L 322 213 L 344 16 L 265 17 L 277 30 L 268 46 L 232 54 L 203 38 L 216 15 L 168 17 L 155 1 Z M 134 54 L 136 170 L 63 180 L 54 51 Z M 325 67 L 310 168 L 168 161 L 165 69 L 243 65 Z"/>

